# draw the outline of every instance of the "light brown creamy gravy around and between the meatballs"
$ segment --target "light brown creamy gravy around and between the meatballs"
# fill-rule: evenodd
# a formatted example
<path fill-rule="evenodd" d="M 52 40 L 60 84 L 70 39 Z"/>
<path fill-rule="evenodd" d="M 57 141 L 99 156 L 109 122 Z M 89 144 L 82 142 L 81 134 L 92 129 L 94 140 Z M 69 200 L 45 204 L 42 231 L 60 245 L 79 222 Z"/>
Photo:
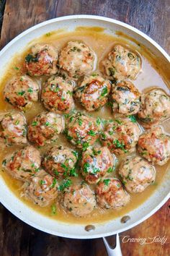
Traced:
<path fill-rule="evenodd" d="M 84 41 L 88 46 L 90 46 L 94 52 L 97 54 L 97 69 L 99 68 L 100 61 L 104 58 L 104 56 L 108 53 L 108 51 L 112 48 L 112 46 L 115 43 L 121 43 L 121 44 L 128 44 L 130 46 L 130 43 L 128 43 L 127 40 L 125 40 L 124 37 L 121 38 L 114 38 L 111 35 L 106 35 L 103 32 L 103 29 L 100 27 L 94 27 L 92 29 L 89 29 L 88 27 L 86 29 L 82 29 L 82 27 L 78 27 L 75 32 L 71 33 L 64 33 L 63 30 L 58 30 L 57 32 L 48 33 L 47 35 L 43 35 L 41 38 L 37 38 L 30 42 L 27 45 L 26 50 L 22 54 L 15 54 L 14 58 L 12 59 L 11 63 L 9 63 L 9 66 L 6 70 L 6 73 L 4 74 L 4 77 L 1 78 L 1 84 L 0 84 L 0 111 L 10 111 L 13 110 L 12 106 L 10 106 L 8 103 L 6 103 L 2 97 L 2 92 L 4 85 L 8 80 L 11 79 L 11 77 L 14 74 L 23 74 L 24 69 L 22 68 L 22 63 L 24 61 L 24 56 L 27 54 L 27 52 L 30 50 L 30 47 L 35 43 L 52 43 L 53 46 L 60 49 L 63 47 L 69 40 L 81 40 Z M 135 86 L 140 90 L 140 92 L 148 90 L 147 88 L 153 88 L 153 87 L 159 87 L 166 91 L 166 93 L 169 93 L 169 87 L 168 82 L 166 81 L 165 77 L 166 74 L 161 75 L 156 71 L 156 69 L 161 70 L 161 63 L 151 58 L 151 56 L 148 56 L 146 58 L 145 49 L 140 48 L 139 46 L 130 46 L 130 48 L 133 48 L 134 50 L 137 50 L 142 58 L 143 65 L 142 65 L 142 71 L 138 75 L 137 79 L 134 82 Z M 16 69 L 16 67 L 18 69 Z M 164 79 L 162 78 L 164 77 Z M 40 83 L 45 80 L 45 77 L 36 78 L 37 81 Z M 84 111 L 79 104 L 76 104 L 76 108 Z M 27 118 L 28 124 L 30 124 L 31 119 L 36 116 L 41 111 L 45 111 L 45 108 L 43 108 L 41 103 L 35 103 L 34 106 L 30 110 L 27 110 L 25 112 L 25 116 Z M 109 107 L 104 106 L 100 111 L 91 112 L 91 116 L 100 116 L 104 119 L 110 119 L 112 118 L 112 113 L 109 109 Z M 165 131 L 167 133 L 170 133 L 170 121 L 164 121 L 162 124 Z M 73 148 L 71 144 L 69 144 L 66 140 L 66 138 L 63 135 L 59 135 L 58 141 L 55 142 L 57 145 L 66 145 L 70 148 Z M 45 146 L 43 148 L 40 148 L 40 151 L 43 155 L 45 151 L 48 149 L 49 146 Z M 3 148 L 1 145 L 1 152 L 0 152 L 0 162 L 3 160 L 6 154 L 12 153 L 14 150 L 17 150 L 19 147 L 12 146 L 11 148 Z M 119 159 L 121 160 L 121 159 Z M 37 205 L 34 205 L 32 202 L 26 200 L 24 197 L 21 197 L 22 193 L 22 182 L 17 181 L 16 179 L 12 179 L 11 176 L 6 174 L 4 171 L 1 171 L 1 176 L 3 177 L 4 181 L 6 182 L 7 186 L 14 192 L 14 195 L 19 197 L 22 202 L 27 204 L 30 208 L 36 210 L 38 213 L 43 214 L 45 216 L 48 216 L 49 218 L 53 218 L 58 221 L 63 221 L 66 223 L 102 223 L 104 221 L 111 220 L 113 218 L 118 218 L 120 216 L 127 215 L 130 210 L 133 210 L 138 207 L 138 205 L 142 204 L 144 201 L 147 200 L 148 197 L 151 196 L 151 194 L 156 190 L 159 184 L 161 184 L 162 179 L 164 179 L 164 174 L 166 171 L 170 168 L 170 163 L 166 163 L 164 166 L 156 166 L 156 182 L 154 184 L 147 187 L 147 189 L 142 192 L 141 194 L 135 194 L 130 195 L 131 200 L 128 205 L 126 205 L 121 210 L 102 210 L 100 208 L 95 209 L 92 213 L 90 213 L 89 216 L 86 216 L 84 218 L 76 218 L 71 215 L 71 213 L 66 212 L 60 203 L 57 203 L 57 213 L 56 215 L 53 215 L 51 211 L 51 206 L 40 208 Z M 115 173 L 110 174 L 110 176 L 117 176 L 117 169 Z M 71 178 L 73 182 L 80 182 L 82 180 L 81 174 L 78 178 Z"/>

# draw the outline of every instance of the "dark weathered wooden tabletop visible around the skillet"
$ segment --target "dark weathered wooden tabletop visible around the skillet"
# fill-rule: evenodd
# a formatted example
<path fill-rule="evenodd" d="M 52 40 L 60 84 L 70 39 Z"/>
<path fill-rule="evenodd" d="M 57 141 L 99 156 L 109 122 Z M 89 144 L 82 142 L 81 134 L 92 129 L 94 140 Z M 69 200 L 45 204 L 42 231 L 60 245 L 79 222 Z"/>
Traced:
<path fill-rule="evenodd" d="M 0 0 L 3 11 L 4 0 Z M 2 7 L 2 8 L 1 8 Z M 1 28 L 1 48 L 32 25 L 69 14 L 97 14 L 126 22 L 151 36 L 170 52 L 169 0 L 7 0 Z M 1 27 L 0 14 L 0 27 Z M 170 255 L 170 200 L 151 218 L 121 235 L 166 236 L 166 244 L 122 243 L 123 256 Z M 169 242 L 169 243 L 167 243 Z M 102 239 L 64 239 L 33 229 L 0 206 L 0 256 L 104 256 Z"/>

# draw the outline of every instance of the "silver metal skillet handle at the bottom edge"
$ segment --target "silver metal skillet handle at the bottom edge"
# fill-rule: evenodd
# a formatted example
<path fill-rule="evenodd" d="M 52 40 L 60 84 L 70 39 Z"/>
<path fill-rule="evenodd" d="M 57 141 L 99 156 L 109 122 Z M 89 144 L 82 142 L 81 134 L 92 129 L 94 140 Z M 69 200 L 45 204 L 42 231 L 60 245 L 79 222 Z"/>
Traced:
<path fill-rule="evenodd" d="M 113 246 L 108 242 L 110 237 L 113 238 L 113 236 L 103 237 L 103 242 L 107 249 L 108 256 L 122 256 L 119 234 L 115 234 L 115 245 Z"/>

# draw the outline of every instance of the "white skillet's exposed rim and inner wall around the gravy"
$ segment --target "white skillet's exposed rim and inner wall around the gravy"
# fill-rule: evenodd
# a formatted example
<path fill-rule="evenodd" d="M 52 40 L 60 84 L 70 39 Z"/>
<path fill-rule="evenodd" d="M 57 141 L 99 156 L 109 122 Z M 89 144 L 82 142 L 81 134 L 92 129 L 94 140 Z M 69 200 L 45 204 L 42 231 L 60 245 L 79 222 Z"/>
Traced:
<path fill-rule="evenodd" d="M 42 22 L 35 27 L 24 31 L 22 34 L 14 38 L 10 43 L 8 43 L 0 52 L 1 69 L 0 77 L 3 75 L 6 65 L 16 52 L 22 52 L 24 46 L 33 40 L 34 38 L 40 37 L 45 33 L 52 30 L 58 30 L 65 28 L 68 31 L 74 30 L 77 26 L 95 26 L 104 27 L 105 33 L 110 35 L 115 35 L 115 31 L 119 30 L 122 33 L 128 34 L 130 37 L 138 40 L 146 48 L 153 52 L 158 58 L 164 59 L 166 65 L 169 65 L 169 55 L 166 54 L 161 46 L 149 38 L 144 33 L 139 30 L 127 25 L 125 23 L 119 22 L 117 20 L 112 20 L 106 17 L 98 17 L 92 15 L 73 15 L 68 17 L 59 17 L 53 20 L 48 20 Z M 156 192 L 151 195 L 151 197 L 146 200 L 142 205 L 140 205 L 135 210 L 132 210 L 128 215 L 130 216 L 130 221 L 127 223 L 121 223 L 120 218 L 108 221 L 107 223 L 95 224 L 95 229 L 91 232 L 87 232 L 84 229 L 84 225 L 79 224 L 67 224 L 54 221 L 50 218 L 40 215 L 31 208 L 27 207 L 22 201 L 20 201 L 6 186 L 4 180 L 0 177 L 0 201 L 1 203 L 10 210 L 15 216 L 20 218 L 25 223 L 30 226 L 45 231 L 49 234 L 54 234 L 57 236 L 63 236 L 68 238 L 76 239 L 92 239 L 102 236 L 110 236 L 112 234 L 118 234 L 127 229 L 133 228 L 133 226 L 138 225 L 146 218 L 150 217 L 156 212 L 162 205 L 169 199 L 169 188 L 170 188 L 170 170 L 169 173 L 165 175 L 164 181 L 158 187 Z M 91 223 L 92 224 L 92 223 Z"/>

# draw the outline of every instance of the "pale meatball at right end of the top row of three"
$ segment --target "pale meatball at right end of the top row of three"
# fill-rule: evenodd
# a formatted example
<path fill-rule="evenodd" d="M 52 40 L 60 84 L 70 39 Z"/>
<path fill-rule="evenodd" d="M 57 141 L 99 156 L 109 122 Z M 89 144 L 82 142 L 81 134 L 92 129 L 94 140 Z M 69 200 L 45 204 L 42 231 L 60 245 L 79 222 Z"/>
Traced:
<path fill-rule="evenodd" d="M 106 74 L 116 80 L 135 80 L 141 69 L 141 59 L 138 54 L 120 45 L 113 48 L 103 64 Z"/>

